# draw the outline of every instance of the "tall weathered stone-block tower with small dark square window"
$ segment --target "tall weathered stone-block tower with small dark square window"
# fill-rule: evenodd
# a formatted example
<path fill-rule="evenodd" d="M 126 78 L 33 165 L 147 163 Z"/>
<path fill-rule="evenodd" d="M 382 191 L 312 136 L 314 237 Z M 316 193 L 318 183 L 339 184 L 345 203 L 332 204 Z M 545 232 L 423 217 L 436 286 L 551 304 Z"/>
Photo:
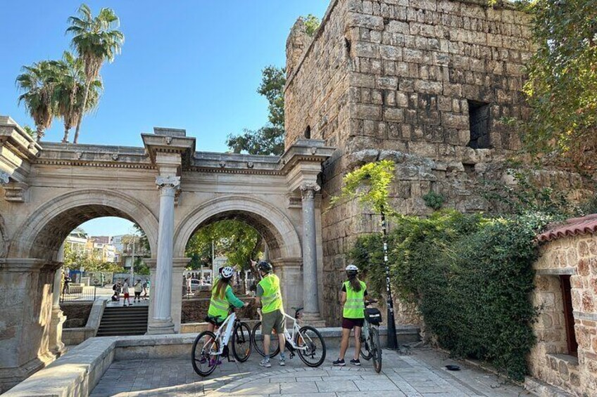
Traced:
<path fill-rule="evenodd" d="M 298 20 L 287 40 L 286 145 L 315 138 L 337 148 L 324 164 L 322 207 L 346 171 L 391 159 L 403 214 L 429 214 L 431 191 L 448 207 L 489 209 L 482 181 L 510 181 L 504 160 L 520 148 L 503 117 L 528 112 L 528 23 L 511 4 L 486 0 L 332 0 L 313 38 Z M 582 191 L 576 174 L 540 177 Z M 354 202 L 322 214 L 325 301 L 337 301 L 354 237 L 378 223 Z M 324 310 L 336 324 L 339 305 Z"/>

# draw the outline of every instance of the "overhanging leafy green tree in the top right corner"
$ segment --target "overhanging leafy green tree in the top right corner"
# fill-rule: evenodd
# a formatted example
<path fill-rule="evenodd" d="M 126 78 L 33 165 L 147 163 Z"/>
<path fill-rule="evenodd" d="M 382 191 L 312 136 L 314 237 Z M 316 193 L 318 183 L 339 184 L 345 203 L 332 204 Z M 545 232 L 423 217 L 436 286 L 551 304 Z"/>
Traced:
<path fill-rule="evenodd" d="M 521 124 L 527 150 L 570 165 L 597 165 L 597 7 L 593 0 L 527 0 L 538 46 L 524 93 L 532 108 Z"/>

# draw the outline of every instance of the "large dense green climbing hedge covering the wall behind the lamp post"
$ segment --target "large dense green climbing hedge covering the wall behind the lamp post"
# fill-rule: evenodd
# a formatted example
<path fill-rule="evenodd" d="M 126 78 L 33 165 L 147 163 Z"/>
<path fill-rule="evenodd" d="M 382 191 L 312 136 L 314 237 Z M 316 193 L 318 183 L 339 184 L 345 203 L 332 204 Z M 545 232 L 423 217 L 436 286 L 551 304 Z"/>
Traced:
<path fill-rule="evenodd" d="M 398 217 L 389 235 L 392 287 L 418 304 L 441 347 L 521 380 L 534 344 L 534 236 L 550 220 L 540 213 L 487 219 L 457 211 Z M 380 239 L 362 236 L 351 250 L 374 296 L 385 290 Z"/>

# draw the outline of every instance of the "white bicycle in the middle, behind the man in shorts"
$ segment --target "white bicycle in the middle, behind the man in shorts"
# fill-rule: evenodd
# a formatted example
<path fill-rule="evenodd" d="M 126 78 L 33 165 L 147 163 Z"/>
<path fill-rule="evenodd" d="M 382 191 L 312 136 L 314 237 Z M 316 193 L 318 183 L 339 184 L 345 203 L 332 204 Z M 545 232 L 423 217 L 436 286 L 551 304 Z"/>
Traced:
<path fill-rule="evenodd" d="M 297 325 L 298 320 L 301 319 L 301 311 L 303 308 L 295 309 L 294 317 L 284 314 L 284 317 L 293 321 L 292 332 L 289 332 L 287 327 L 284 327 L 284 336 L 286 339 L 286 349 L 289 351 L 289 358 L 294 358 L 295 352 L 298 353 L 298 357 L 301 358 L 303 363 L 309 367 L 319 367 L 325 360 L 325 341 L 321 336 L 320 332 L 311 327 L 310 325 L 304 325 L 299 327 Z M 253 347 L 261 355 L 265 356 L 263 352 L 263 336 L 260 330 L 261 322 L 258 322 L 253 327 L 251 333 L 251 339 L 253 341 Z M 275 346 L 275 348 L 274 348 Z M 270 357 L 275 357 L 279 353 L 279 339 L 277 334 L 272 331 L 272 337 L 270 338 Z M 319 356 L 319 352 L 321 355 Z"/>

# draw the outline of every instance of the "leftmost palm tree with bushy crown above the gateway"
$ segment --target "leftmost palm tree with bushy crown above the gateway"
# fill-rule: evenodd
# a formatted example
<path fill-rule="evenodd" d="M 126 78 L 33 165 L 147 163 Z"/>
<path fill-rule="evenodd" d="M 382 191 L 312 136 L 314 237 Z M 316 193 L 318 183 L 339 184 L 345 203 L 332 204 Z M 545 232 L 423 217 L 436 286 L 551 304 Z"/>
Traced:
<path fill-rule="evenodd" d="M 23 73 L 16 79 L 18 88 L 24 91 L 18 98 L 19 103 L 25 103 L 25 108 L 35 123 L 37 141 L 42 139 L 44 131 L 50 128 L 54 119 L 54 73 L 54 63 L 42 60 L 31 66 L 23 66 Z"/>

